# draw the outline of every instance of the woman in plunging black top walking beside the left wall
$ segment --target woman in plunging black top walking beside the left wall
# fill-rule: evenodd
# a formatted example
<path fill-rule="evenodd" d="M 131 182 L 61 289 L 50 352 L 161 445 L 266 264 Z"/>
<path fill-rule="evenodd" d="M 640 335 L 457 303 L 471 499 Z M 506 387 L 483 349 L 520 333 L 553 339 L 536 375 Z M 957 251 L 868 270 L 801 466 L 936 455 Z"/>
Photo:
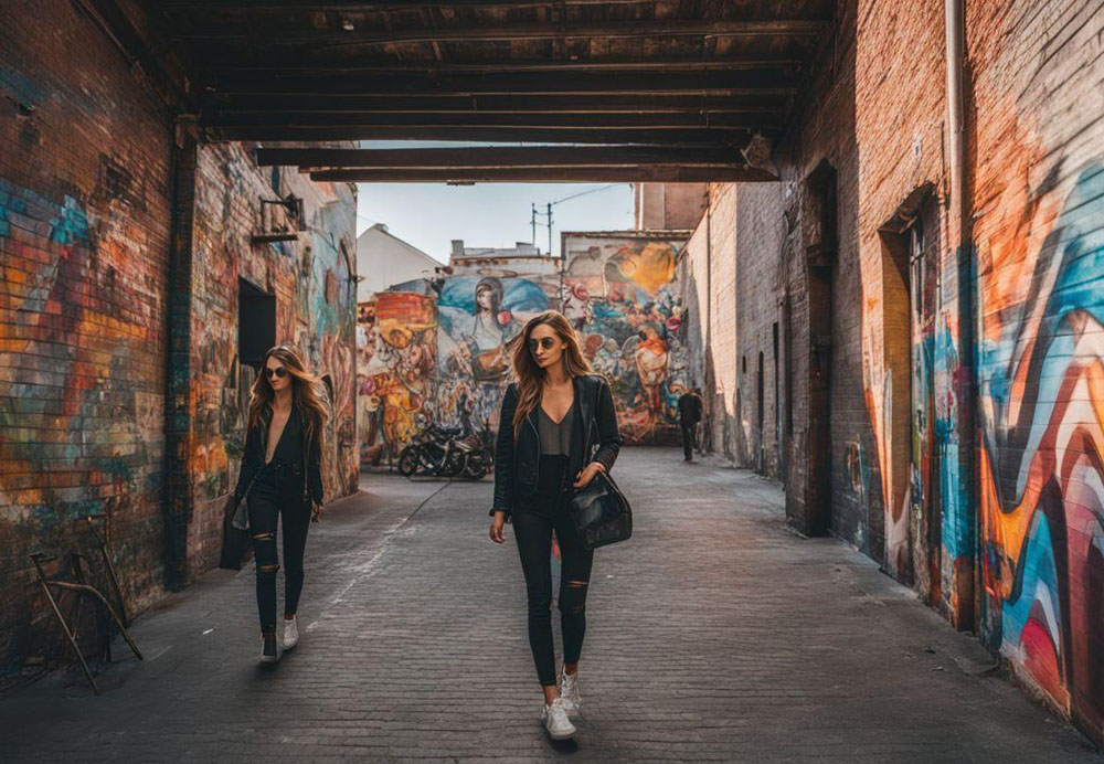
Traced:
<path fill-rule="evenodd" d="M 250 534 L 257 572 L 257 611 L 263 646 L 261 662 L 275 664 L 295 647 L 295 620 L 302 592 L 307 529 L 321 518 L 321 438 L 326 405 L 318 379 L 295 349 L 280 344 L 265 354 L 262 374 L 250 395 L 248 429 L 234 496 L 247 501 Z M 276 634 L 276 553 L 278 518 L 284 519 L 283 645 Z"/>

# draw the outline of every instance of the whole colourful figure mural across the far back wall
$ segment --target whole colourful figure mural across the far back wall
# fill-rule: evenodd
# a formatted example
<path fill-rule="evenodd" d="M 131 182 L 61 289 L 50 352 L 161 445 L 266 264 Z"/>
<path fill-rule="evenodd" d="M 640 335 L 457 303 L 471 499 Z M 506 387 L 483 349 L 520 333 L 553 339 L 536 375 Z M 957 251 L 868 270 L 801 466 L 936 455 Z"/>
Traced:
<path fill-rule="evenodd" d="M 559 308 L 611 382 L 626 443 L 672 443 L 686 389 L 675 259 L 684 242 L 569 234 L 565 261 L 454 258 L 431 287 L 413 282 L 360 304 L 361 458 L 397 456 L 424 422 L 497 432 L 511 354 L 526 321 Z"/>

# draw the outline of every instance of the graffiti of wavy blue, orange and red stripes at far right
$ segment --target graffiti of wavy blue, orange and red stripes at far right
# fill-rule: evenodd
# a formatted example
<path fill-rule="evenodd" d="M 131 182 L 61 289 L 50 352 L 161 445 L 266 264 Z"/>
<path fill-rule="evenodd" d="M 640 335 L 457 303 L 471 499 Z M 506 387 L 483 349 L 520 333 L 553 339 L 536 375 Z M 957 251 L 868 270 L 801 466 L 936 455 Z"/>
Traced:
<path fill-rule="evenodd" d="M 1104 165 L 1074 178 L 1022 188 L 1015 224 L 978 253 L 981 563 L 987 638 L 1101 729 Z"/>

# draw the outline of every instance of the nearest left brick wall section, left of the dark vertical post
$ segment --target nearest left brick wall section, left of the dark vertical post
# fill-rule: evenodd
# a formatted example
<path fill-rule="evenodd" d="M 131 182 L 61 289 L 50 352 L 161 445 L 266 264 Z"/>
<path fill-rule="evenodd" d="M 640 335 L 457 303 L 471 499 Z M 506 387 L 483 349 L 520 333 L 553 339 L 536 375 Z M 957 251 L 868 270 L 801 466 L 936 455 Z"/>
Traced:
<path fill-rule="evenodd" d="M 60 0 L 0 10 L 0 95 L 7 685 L 24 657 L 62 648 L 26 555 L 92 552 L 81 516 L 113 513 L 131 608 L 162 592 L 171 131 L 103 32 Z"/>

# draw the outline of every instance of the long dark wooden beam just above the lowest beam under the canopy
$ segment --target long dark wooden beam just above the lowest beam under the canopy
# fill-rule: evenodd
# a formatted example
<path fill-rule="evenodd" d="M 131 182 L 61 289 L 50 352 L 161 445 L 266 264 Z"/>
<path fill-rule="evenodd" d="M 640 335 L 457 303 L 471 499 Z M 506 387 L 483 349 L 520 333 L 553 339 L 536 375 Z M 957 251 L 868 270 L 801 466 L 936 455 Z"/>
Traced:
<path fill-rule="evenodd" d="M 257 165 L 363 169 L 487 169 L 505 167 L 728 167 L 743 163 L 735 148 L 649 146 L 471 146 L 465 148 L 332 149 L 259 148 Z"/>

